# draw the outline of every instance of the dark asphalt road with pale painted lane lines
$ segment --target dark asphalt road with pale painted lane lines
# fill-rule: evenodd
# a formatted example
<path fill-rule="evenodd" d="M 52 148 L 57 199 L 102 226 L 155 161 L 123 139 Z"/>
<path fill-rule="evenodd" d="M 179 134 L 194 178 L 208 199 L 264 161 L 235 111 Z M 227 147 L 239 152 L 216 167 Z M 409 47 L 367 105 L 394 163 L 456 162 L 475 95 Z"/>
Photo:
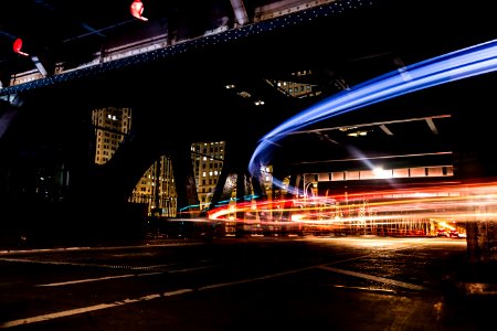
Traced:
<path fill-rule="evenodd" d="M 0 253 L 0 329 L 484 330 L 450 238 L 251 238 Z M 494 308 L 493 308 L 494 307 Z"/>

